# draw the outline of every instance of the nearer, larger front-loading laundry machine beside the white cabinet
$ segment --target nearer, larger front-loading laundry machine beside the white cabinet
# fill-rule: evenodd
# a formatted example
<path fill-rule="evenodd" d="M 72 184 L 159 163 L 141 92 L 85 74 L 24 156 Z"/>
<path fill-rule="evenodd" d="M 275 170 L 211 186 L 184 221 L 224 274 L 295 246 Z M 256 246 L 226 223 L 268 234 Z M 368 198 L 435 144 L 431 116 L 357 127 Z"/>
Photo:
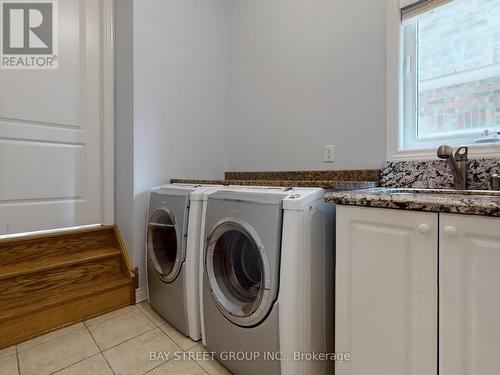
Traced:
<path fill-rule="evenodd" d="M 322 189 L 205 194 L 203 342 L 234 374 L 327 374 L 335 206 Z"/>

